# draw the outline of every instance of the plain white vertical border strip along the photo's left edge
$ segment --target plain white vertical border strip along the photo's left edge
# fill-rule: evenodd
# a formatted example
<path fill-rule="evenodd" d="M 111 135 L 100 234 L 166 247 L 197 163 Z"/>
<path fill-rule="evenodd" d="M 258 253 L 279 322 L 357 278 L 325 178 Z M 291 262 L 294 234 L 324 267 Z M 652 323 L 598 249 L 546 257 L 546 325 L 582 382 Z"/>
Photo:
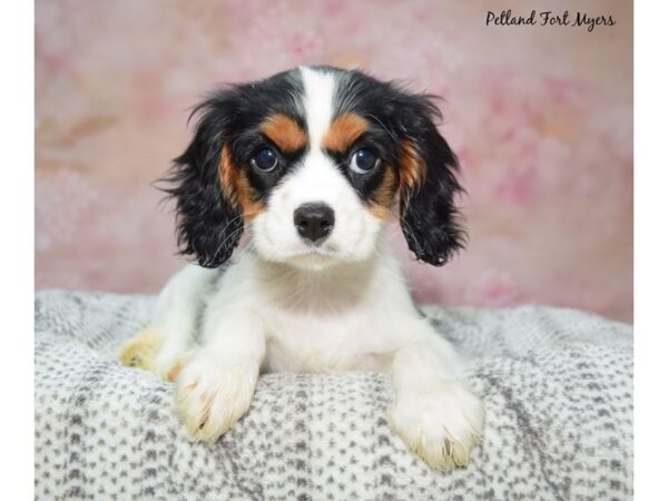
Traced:
<path fill-rule="evenodd" d="M 0 450 L 3 499 L 33 499 L 35 7 L 0 9 Z"/>

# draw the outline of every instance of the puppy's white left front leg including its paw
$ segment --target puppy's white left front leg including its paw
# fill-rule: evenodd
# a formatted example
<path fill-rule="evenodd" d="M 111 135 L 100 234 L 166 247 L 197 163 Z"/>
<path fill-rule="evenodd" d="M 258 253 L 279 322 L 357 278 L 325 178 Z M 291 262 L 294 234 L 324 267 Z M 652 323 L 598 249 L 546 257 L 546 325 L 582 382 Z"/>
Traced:
<path fill-rule="evenodd" d="M 246 413 L 264 355 L 263 326 L 252 312 L 207 314 L 204 344 L 176 379 L 176 411 L 193 436 L 213 443 Z"/>

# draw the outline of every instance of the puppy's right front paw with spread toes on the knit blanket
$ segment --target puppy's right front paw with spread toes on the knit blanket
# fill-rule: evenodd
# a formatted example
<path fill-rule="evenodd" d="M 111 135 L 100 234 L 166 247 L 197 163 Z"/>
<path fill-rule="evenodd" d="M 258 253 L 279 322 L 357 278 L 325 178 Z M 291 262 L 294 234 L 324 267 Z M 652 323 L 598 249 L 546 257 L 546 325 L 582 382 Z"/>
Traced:
<path fill-rule="evenodd" d="M 462 383 L 400 395 L 387 421 L 410 450 L 434 470 L 465 466 L 482 438 L 484 406 Z"/>

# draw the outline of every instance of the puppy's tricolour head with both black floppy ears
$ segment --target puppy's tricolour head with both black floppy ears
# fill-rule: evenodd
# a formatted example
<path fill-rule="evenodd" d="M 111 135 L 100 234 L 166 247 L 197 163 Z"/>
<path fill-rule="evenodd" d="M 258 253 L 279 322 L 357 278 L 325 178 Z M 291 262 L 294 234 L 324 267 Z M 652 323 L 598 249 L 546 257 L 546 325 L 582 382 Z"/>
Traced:
<path fill-rule="evenodd" d="M 306 268 L 367 258 L 399 202 L 409 248 L 440 266 L 462 245 L 456 159 L 428 96 L 360 71 L 298 68 L 196 108 L 175 160 L 181 252 L 223 264 L 244 229 L 265 259 Z"/>

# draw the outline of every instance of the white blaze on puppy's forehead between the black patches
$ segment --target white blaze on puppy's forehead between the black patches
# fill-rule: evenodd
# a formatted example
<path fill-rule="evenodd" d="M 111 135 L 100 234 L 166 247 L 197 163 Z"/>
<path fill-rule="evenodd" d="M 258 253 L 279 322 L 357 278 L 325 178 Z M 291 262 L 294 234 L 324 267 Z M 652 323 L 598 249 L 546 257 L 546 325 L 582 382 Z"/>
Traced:
<path fill-rule="evenodd" d="M 334 112 L 335 81 L 332 72 L 317 71 L 312 68 L 299 68 L 304 84 L 304 108 L 311 150 L 320 147 L 327 132 Z"/>

